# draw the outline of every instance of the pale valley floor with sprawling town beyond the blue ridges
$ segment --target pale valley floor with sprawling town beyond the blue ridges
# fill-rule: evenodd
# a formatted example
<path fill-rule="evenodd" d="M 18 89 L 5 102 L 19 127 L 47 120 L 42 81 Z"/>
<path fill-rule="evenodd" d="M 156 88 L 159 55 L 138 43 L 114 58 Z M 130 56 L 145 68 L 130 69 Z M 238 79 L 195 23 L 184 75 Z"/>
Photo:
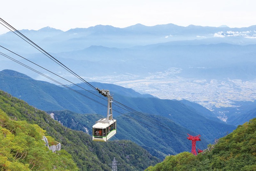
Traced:
<path fill-rule="evenodd" d="M 180 77 L 180 72 L 182 69 L 170 68 L 163 72 L 149 73 L 146 77 L 126 73 L 86 79 L 131 88 L 159 99 L 186 99 L 213 111 L 224 122 L 228 119 L 226 108 L 238 108 L 239 112 L 240 105 L 236 101 L 256 99 L 256 79 L 192 79 Z"/>

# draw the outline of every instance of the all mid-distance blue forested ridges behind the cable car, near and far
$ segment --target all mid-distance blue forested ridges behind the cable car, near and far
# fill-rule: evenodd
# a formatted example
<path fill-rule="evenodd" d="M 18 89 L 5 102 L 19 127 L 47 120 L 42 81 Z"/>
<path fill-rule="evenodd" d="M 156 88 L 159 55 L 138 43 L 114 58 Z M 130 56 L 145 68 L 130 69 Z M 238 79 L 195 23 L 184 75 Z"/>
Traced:
<path fill-rule="evenodd" d="M 81 83 L 78 88 L 74 88 L 76 86 L 73 84 L 69 87 L 77 89 L 89 98 L 66 87 L 38 81 L 13 70 L 1 71 L 0 82 L 0 89 L 3 91 L 47 111 L 63 125 L 88 134 L 91 134 L 95 121 L 107 113 L 106 106 L 102 106 L 107 104 L 106 99 L 99 98 L 98 93 L 94 94 L 95 91 L 91 88 L 87 91 L 81 89 L 83 86 L 88 87 L 87 84 Z M 223 123 L 199 104 L 184 100 L 162 100 L 113 84 L 90 84 L 109 89 L 114 100 L 119 102 L 113 102 L 113 115 L 119 126 L 118 135 L 113 140 L 134 141 L 160 159 L 168 154 L 189 151 L 191 142 L 186 139 L 187 133 L 200 134 L 202 142 L 198 147 L 206 148 L 207 144 L 236 128 L 234 125 Z M 119 104 L 124 104 L 132 110 L 125 110 Z"/>

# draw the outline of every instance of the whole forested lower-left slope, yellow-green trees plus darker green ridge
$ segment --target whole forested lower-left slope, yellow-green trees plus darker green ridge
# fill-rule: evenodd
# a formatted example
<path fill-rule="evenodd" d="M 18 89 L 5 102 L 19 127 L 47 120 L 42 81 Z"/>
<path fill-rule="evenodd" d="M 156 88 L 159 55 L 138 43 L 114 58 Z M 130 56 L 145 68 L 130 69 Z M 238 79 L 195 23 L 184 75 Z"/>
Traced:
<path fill-rule="evenodd" d="M 45 111 L 29 106 L 25 101 L 1 90 L 0 109 L 0 126 L 3 130 L 0 140 L 1 145 L 3 145 L 0 147 L 0 171 L 19 171 L 17 168 L 21 168 L 20 171 L 40 170 L 39 166 L 36 165 L 38 162 L 30 161 L 33 152 L 35 153 L 33 157 L 40 160 L 40 162 L 47 163 L 49 161 L 47 163 L 49 166 L 42 164 L 44 167 L 55 167 L 54 164 L 60 164 L 58 161 L 62 161 L 62 165 L 60 164 L 58 169 L 70 171 L 77 170 L 77 168 L 79 171 L 111 171 L 110 164 L 112 164 L 114 157 L 120 164 L 118 165 L 119 171 L 142 171 L 160 162 L 159 159 L 149 154 L 147 150 L 131 141 L 94 142 L 92 137 L 85 132 L 67 128 L 53 120 Z M 15 125 L 17 125 L 17 128 Z M 62 150 L 57 153 L 48 152 L 49 149 L 41 140 L 43 135 L 60 142 Z M 15 136 L 32 139 L 28 142 L 24 140 L 24 143 L 31 142 L 32 144 L 20 144 L 21 142 L 17 141 L 22 141 L 24 138 L 15 138 Z M 7 145 L 8 143 L 10 143 L 9 146 Z M 14 149 L 11 149 L 11 145 Z M 25 147 L 27 149 L 22 149 Z M 30 150 L 33 151 L 28 153 Z M 41 154 L 45 152 L 44 150 L 48 153 Z M 40 157 L 43 159 L 41 160 Z M 69 163 L 68 168 L 65 168 L 64 161 L 67 164 Z M 15 164 L 10 164 L 10 162 Z M 34 167 L 33 162 L 35 163 Z M 7 166 L 17 168 L 5 168 Z M 44 168 L 42 170 L 51 171 L 52 169 Z"/>

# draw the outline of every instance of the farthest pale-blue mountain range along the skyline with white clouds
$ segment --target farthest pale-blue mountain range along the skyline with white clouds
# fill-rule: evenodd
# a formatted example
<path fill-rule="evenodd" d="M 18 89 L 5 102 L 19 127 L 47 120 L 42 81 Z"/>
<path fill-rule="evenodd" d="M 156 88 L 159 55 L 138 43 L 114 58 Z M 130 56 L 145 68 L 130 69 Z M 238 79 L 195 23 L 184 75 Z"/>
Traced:
<path fill-rule="evenodd" d="M 50 27 L 40 30 L 21 30 L 20 32 L 29 39 L 35 41 L 49 52 L 74 51 L 89 46 L 107 46 L 127 48 L 139 45 L 149 45 L 169 41 L 184 41 L 194 39 L 208 39 L 214 37 L 246 38 L 240 42 L 229 41 L 226 43 L 248 44 L 254 37 L 256 26 L 247 28 L 209 27 L 209 26 L 177 26 L 175 24 L 163 24 L 156 26 L 144 26 L 136 24 L 126 28 L 97 25 L 89 28 L 76 28 L 61 31 Z M 16 35 L 8 32 L 0 35 L 0 42 L 11 45 Z M 11 39 L 10 39 L 11 38 Z M 136 41 L 134 41 L 136 39 Z M 224 40 L 222 39 L 222 41 Z M 16 43 L 20 43 L 15 39 Z M 220 42 L 219 42 L 220 43 Z M 254 41 L 255 43 L 255 41 Z M 12 45 L 13 46 L 13 45 Z M 24 48 L 24 47 L 23 47 Z M 20 48 L 18 51 L 22 51 Z"/>

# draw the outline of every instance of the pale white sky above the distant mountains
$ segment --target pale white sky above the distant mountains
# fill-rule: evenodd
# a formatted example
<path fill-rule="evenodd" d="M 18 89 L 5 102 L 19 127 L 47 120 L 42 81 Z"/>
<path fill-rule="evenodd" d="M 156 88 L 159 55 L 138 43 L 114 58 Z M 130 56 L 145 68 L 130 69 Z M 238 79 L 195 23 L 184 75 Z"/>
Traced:
<path fill-rule="evenodd" d="M 256 25 L 256 0 L 4 0 L 0 18 L 15 29 L 50 26 L 67 31 L 95 25 L 248 27 Z M 7 30 L 0 24 L 0 34 Z"/>

